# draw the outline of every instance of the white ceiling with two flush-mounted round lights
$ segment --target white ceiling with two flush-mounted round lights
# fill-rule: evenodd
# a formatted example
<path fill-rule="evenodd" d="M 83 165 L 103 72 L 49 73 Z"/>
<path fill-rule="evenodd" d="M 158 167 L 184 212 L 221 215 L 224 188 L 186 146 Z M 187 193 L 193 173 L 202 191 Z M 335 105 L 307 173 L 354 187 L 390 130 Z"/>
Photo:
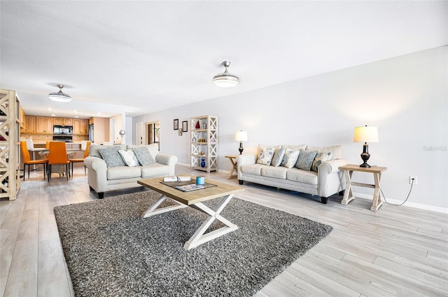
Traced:
<path fill-rule="evenodd" d="M 1 88 L 43 116 L 136 116 L 448 44 L 448 1 L 2 0 L 0 17 Z M 224 60 L 236 88 L 212 83 Z M 59 83 L 70 103 L 48 99 Z"/>

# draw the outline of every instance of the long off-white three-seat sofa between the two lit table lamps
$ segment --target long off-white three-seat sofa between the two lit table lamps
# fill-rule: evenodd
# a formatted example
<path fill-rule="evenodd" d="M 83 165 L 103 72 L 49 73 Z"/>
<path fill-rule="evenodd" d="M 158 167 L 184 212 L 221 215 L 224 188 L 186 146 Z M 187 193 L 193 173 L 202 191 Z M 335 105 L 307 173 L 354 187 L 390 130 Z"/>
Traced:
<path fill-rule="evenodd" d="M 237 157 L 239 184 L 242 185 L 244 181 L 250 181 L 265 186 L 318 195 L 324 204 L 328 202 L 328 197 L 331 195 L 344 193 L 345 178 L 343 172 L 338 168 L 349 162 L 342 158 L 342 146 L 282 145 L 274 147 L 274 151 L 286 148 L 292 151 L 304 150 L 308 153 L 312 151 L 330 152 L 330 160 L 322 161 L 320 165 L 316 163 L 317 172 L 299 169 L 295 167 L 297 164 L 291 168 L 258 164 L 261 149 L 265 147 L 269 146 L 260 145 L 257 154 L 244 154 Z"/>

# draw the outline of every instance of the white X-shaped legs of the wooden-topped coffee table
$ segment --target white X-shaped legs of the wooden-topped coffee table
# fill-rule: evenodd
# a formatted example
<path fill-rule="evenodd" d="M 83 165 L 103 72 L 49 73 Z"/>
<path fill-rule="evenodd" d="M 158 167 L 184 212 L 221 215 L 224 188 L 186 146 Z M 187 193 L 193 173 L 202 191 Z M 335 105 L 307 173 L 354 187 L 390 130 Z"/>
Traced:
<path fill-rule="evenodd" d="M 222 235 L 225 235 L 238 229 L 237 225 L 231 223 L 230 221 L 228 221 L 228 219 L 225 219 L 223 216 L 221 216 L 221 212 L 223 211 L 225 206 L 228 205 L 228 202 L 230 202 L 233 195 L 234 194 L 223 196 L 221 201 L 218 203 L 216 209 L 211 209 L 206 205 L 204 205 L 202 202 L 197 202 L 192 205 L 184 205 L 183 203 L 174 199 L 173 200 L 176 201 L 178 205 L 158 208 L 160 204 L 162 204 L 162 202 L 165 201 L 165 199 L 167 199 L 167 196 L 162 195 L 162 197 L 159 200 L 154 202 L 154 204 L 151 205 L 151 207 L 149 207 L 148 210 L 146 210 L 146 212 L 142 215 L 142 217 L 147 218 L 148 216 L 154 216 L 156 214 L 162 214 L 164 212 L 172 212 L 173 210 L 181 209 L 188 206 L 193 207 L 194 209 L 197 209 L 200 212 L 204 212 L 204 214 L 208 215 L 207 219 L 205 219 L 204 223 L 202 223 L 200 228 L 196 230 L 195 234 L 193 234 L 193 236 L 190 237 L 190 240 L 188 240 L 183 245 L 183 249 L 187 250 L 193 249 L 193 247 L 197 247 L 198 245 L 203 244 L 204 242 L 214 240 L 216 237 L 220 237 Z M 209 233 L 205 233 L 205 231 L 207 231 L 211 223 L 213 223 L 215 220 L 221 221 L 221 223 L 223 223 L 225 226 L 217 230 L 213 230 Z"/>

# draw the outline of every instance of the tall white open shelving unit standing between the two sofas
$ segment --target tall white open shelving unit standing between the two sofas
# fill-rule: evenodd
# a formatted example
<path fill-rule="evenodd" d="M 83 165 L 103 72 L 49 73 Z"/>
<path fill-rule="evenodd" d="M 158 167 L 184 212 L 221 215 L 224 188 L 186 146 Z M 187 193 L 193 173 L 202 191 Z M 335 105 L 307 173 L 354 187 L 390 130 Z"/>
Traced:
<path fill-rule="evenodd" d="M 218 172 L 218 117 L 192 117 L 190 127 L 191 169 Z"/>

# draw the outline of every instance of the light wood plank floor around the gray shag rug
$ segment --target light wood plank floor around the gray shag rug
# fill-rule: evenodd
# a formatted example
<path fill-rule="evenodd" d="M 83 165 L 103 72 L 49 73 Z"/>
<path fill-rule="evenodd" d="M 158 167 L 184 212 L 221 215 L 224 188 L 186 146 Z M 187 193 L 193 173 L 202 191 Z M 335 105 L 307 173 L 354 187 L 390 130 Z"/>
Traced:
<path fill-rule="evenodd" d="M 177 174 L 204 175 L 177 166 Z M 225 172 L 206 179 L 237 184 Z M 247 183 L 237 198 L 331 225 L 334 230 L 255 296 L 448 296 L 448 215 L 371 201 L 327 205 L 311 195 Z M 105 198 L 143 191 L 113 191 Z M 0 199 L 0 296 L 74 296 L 53 207 L 96 200 L 83 167 L 73 179 L 42 172 L 22 182 L 18 199 Z M 269 248 L 269 247 L 266 247 Z"/>

